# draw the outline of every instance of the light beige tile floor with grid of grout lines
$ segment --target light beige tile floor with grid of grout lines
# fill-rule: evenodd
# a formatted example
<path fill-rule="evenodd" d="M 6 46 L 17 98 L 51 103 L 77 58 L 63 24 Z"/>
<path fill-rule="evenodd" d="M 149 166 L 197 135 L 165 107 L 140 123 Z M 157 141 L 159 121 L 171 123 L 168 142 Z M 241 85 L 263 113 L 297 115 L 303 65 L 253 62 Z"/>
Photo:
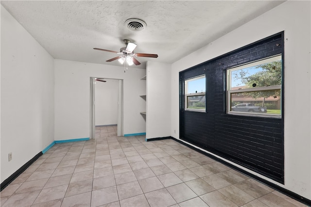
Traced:
<path fill-rule="evenodd" d="M 107 132 L 53 145 L 1 191 L 1 207 L 305 206 L 173 140 Z"/>

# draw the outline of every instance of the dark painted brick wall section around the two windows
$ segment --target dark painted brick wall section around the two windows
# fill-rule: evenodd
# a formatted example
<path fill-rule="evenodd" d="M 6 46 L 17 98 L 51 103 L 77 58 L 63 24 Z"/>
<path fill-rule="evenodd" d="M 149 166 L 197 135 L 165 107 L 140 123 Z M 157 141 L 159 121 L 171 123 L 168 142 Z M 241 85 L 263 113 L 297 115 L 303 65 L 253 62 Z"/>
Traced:
<path fill-rule="evenodd" d="M 226 114 L 225 105 L 227 68 L 280 53 L 283 32 L 180 72 L 180 138 L 284 183 L 283 119 Z M 203 74 L 207 110 L 185 111 L 184 80 Z"/>

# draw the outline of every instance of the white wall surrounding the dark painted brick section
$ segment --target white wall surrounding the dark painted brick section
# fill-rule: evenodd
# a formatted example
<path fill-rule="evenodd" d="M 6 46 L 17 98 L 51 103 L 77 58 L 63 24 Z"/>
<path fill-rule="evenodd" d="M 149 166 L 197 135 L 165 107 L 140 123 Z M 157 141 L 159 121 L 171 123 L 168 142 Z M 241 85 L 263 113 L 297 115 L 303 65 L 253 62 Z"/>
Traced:
<path fill-rule="evenodd" d="M 178 72 L 285 31 L 285 185 L 311 199 L 311 1 L 286 1 L 172 65 L 172 136 L 179 128 Z M 307 91 L 307 92 L 306 92 Z M 297 101 L 299 100 L 299 101 Z M 179 130 L 176 130 L 178 132 Z M 254 173 L 257 175 L 256 173 Z M 262 175 L 259 175 L 263 177 Z"/>

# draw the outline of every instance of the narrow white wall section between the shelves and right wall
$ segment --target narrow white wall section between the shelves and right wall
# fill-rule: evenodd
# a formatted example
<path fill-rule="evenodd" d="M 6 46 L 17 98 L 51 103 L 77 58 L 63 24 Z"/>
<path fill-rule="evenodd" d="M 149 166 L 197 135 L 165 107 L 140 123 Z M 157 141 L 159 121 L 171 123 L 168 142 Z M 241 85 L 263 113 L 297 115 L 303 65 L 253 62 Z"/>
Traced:
<path fill-rule="evenodd" d="M 171 136 L 171 64 L 147 62 L 146 138 Z"/>

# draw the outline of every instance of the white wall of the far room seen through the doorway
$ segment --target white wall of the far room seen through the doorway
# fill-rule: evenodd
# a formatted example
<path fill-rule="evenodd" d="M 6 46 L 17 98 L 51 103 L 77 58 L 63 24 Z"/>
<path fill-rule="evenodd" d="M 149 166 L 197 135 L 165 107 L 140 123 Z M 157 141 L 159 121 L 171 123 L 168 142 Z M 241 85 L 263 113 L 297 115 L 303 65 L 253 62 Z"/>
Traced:
<path fill-rule="evenodd" d="M 95 125 L 118 124 L 119 80 L 95 81 Z"/>

